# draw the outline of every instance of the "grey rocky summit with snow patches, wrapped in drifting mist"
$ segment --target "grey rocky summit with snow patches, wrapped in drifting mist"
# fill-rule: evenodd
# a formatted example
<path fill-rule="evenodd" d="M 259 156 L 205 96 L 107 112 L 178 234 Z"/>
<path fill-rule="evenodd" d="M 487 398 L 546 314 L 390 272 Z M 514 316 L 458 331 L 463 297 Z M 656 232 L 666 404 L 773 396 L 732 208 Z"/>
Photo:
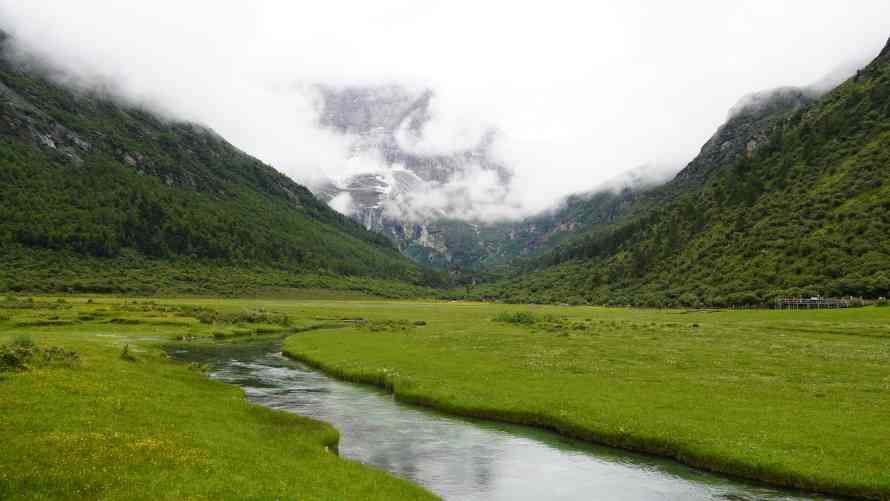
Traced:
<path fill-rule="evenodd" d="M 350 150 L 352 168 L 317 188 L 337 210 L 380 229 L 387 218 L 491 221 L 521 209 L 511 199 L 510 169 L 492 155 L 496 130 L 448 117 L 433 91 L 394 84 L 318 91 L 319 124 Z"/>

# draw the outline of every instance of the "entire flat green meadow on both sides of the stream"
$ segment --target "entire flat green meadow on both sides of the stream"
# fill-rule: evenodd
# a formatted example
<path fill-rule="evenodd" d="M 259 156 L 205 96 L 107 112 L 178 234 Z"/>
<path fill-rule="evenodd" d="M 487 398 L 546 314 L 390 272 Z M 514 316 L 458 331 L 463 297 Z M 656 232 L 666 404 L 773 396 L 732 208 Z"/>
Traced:
<path fill-rule="evenodd" d="M 890 308 L 0 298 L 0 498 L 428 499 L 163 346 L 289 355 L 444 411 L 890 498 Z"/>

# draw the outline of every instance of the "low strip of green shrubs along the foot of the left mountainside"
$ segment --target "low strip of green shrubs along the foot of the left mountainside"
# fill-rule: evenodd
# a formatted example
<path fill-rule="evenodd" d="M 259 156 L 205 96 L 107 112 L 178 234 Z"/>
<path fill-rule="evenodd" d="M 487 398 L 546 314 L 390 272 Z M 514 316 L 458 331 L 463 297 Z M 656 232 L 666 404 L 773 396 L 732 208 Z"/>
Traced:
<path fill-rule="evenodd" d="M 127 293 L 135 295 L 285 295 L 307 297 L 342 291 L 356 297 L 432 297 L 430 288 L 397 279 L 294 272 L 286 266 L 130 254 L 97 258 L 72 252 L 0 247 L 0 290 L 16 292 Z M 305 291 L 305 292 L 300 292 Z M 336 294 L 334 294 L 336 295 Z M 57 305 L 64 309 L 67 305 Z M 18 300 L 3 308 L 27 308 Z"/>

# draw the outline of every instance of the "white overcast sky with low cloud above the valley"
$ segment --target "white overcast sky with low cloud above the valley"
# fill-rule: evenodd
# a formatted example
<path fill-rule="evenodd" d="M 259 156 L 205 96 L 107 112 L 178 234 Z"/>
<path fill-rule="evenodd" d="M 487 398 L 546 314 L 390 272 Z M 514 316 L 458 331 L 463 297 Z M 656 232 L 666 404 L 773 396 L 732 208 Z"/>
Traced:
<path fill-rule="evenodd" d="M 436 137 L 496 128 L 536 209 L 681 166 L 747 93 L 864 64 L 890 2 L 0 0 L 0 26 L 300 182 L 347 168 L 314 84 L 431 88 Z"/>

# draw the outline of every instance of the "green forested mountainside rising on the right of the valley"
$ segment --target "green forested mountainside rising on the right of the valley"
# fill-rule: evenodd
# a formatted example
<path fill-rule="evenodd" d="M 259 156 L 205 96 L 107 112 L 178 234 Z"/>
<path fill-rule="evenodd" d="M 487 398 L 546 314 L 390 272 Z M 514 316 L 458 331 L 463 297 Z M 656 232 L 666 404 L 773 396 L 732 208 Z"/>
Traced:
<path fill-rule="evenodd" d="M 890 43 L 824 96 L 737 106 L 672 181 L 479 287 L 509 301 L 727 305 L 890 294 Z"/>

